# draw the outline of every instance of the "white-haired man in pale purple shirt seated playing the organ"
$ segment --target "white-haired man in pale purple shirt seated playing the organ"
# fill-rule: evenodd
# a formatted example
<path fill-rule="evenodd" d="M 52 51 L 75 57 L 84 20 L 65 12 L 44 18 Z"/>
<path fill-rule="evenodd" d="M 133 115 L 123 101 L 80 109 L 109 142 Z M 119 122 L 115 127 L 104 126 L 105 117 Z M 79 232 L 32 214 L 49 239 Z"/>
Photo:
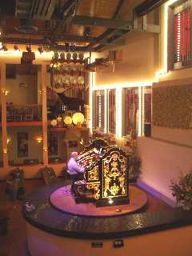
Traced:
<path fill-rule="evenodd" d="M 78 165 L 76 162 L 78 158 L 77 152 L 72 152 L 70 154 L 70 160 L 67 162 L 67 173 L 70 174 L 70 178 L 72 179 L 71 192 L 74 193 L 74 182 L 82 180 L 83 174 L 85 172 L 84 168 Z"/>

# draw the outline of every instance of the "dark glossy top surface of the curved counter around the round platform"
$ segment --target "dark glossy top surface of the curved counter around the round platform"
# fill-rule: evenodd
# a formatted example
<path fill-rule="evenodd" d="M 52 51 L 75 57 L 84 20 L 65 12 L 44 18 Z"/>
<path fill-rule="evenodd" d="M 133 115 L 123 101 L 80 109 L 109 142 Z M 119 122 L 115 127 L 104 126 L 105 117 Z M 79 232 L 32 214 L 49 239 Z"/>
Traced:
<path fill-rule="evenodd" d="M 130 238 L 133 235 L 149 234 L 153 231 L 192 224 L 191 210 L 184 211 L 182 208 L 171 207 L 146 213 L 121 214 L 110 218 L 89 218 L 66 214 L 50 204 L 50 194 L 63 186 L 65 186 L 64 182 L 57 182 L 51 186 L 42 186 L 30 192 L 30 194 L 26 194 L 25 202 L 30 202 L 35 206 L 34 210 L 30 212 L 26 210 L 25 203 L 23 205 L 23 216 L 26 218 L 30 229 L 34 227 L 39 232 L 44 231 L 46 234 L 90 240 L 125 238 L 126 236 Z M 38 239 L 37 236 L 33 238 Z M 42 249 L 44 250 L 45 246 L 42 246 Z M 31 255 L 40 256 L 41 254 Z M 42 255 L 45 255 L 45 251 Z M 68 256 L 68 254 L 66 255 Z"/>

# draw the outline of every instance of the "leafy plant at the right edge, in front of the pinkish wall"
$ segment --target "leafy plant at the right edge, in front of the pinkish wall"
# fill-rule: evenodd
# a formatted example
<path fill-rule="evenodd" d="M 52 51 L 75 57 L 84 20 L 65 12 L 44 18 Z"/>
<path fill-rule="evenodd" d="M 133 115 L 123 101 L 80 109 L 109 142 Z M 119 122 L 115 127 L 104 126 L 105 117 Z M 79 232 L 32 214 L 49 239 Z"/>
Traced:
<path fill-rule="evenodd" d="M 181 204 L 184 210 L 192 209 L 192 171 L 181 174 L 178 182 L 171 180 L 170 183 L 170 189 L 176 202 Z"/>

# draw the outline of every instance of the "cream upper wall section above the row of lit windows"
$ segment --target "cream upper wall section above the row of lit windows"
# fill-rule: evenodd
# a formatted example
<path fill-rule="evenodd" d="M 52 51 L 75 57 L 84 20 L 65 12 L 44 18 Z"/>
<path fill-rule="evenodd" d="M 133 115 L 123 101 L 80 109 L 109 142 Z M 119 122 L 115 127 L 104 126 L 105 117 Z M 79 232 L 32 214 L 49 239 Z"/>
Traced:
<path fill-rule="evenodd" d="M 131 86 L 131 82 L 153 81 L 158 68 L 157 35 L 131 32 L 126 38 L 126 45 L 116 50 L 122 50 L 122 62 L 115 63 L 114 72 L 111 66 L 101 70 L 98 67 L 96 86 L 121 83 Z"/>

